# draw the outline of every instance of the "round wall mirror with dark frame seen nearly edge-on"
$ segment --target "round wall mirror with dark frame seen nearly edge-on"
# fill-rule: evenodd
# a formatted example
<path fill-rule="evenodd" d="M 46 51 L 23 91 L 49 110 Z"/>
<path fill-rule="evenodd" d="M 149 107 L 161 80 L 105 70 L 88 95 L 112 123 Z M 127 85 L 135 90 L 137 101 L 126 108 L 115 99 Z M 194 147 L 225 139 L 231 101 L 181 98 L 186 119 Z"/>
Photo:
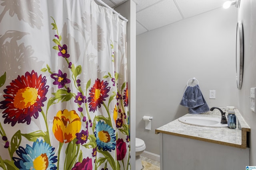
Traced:
<path fill-rule="evenodd" d="M 240 90 L 243 81 L 244 69 L 244 31 L 242 22 L 238 21 L 236 25 L 236 84 Z"/>

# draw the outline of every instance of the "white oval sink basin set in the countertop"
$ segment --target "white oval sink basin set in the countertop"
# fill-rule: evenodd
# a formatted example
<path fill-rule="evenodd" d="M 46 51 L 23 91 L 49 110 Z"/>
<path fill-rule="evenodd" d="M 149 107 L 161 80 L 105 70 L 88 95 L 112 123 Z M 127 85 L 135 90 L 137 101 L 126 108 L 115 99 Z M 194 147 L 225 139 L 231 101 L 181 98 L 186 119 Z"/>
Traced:
<path fill-rule="evenodd" d="M 189 125 L 203 126 L 203 127 L 228 127 L 228 124 L 221 124 L 218 117 L 207 116 L 183 116 L 178 120 Z"/>

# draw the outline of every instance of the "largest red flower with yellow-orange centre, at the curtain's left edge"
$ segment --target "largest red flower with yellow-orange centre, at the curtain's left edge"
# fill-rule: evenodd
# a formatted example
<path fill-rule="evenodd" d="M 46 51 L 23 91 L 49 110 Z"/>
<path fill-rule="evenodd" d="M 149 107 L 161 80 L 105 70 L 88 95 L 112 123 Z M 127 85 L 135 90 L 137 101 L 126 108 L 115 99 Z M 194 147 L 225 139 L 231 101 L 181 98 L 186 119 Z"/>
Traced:
<path fill-rule="evenodd" d="M 0 109 L 5 109 L 2 112 L 4 123 L 14 126 L 17 122 L 26 122 L 29 125 L 32 116 L 37 119 L 38 111 L 42 111 L 43 102 L 47 100 L 48 88 L 46 77 L 38 76 L 34 70 L 12 80 L 10 86 L 6 86 L 4 90 L 5 100 L 0 102 Z"/>

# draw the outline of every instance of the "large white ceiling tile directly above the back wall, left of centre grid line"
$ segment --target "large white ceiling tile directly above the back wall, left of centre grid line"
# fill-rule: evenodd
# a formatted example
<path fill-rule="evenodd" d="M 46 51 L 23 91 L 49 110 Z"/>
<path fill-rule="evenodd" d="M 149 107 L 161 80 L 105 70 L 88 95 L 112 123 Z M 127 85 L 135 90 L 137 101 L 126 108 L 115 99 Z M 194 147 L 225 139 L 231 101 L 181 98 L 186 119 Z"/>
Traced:
<path fill-rule="evenodd" d="M 148 30 L 182 20 L 182 16 L 173 0 L 163 0 L 154 6 L 137 12 L 136 18 Z"/>

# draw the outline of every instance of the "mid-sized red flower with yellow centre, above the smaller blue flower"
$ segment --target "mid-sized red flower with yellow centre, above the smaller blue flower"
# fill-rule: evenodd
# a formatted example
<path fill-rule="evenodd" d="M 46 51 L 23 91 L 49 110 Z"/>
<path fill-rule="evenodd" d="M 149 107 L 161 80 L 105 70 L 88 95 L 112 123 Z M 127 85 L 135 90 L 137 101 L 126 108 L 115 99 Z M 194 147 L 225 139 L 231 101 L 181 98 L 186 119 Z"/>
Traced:
<path fill-rule="evenodd" d="M 88 102 L 90 111 L 96 111 L 97 106 L 100 108 L 101 104 L 103 104 L 103 101 L 105 101 L 108 97 L 108 92 L 110 90 L 110 87 L 108 87 L 108 82 L 107 81 L 101 81 L 97 78 L 95 80 L 94 85 L 92 86 L 90 90 L 90 97 L 88 97 Z"/>

